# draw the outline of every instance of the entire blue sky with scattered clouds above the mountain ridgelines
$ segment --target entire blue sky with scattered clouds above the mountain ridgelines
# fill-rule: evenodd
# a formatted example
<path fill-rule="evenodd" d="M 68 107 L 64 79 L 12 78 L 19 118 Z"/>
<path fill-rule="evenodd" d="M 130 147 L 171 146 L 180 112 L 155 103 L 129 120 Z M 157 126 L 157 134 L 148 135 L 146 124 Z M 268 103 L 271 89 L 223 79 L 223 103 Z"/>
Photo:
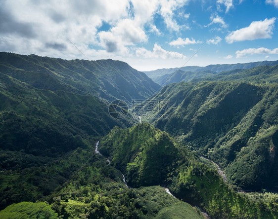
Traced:
<path fill-rule="evenodd" d="M 271 61 L 277 16 L 278 0 L 0 0 L 0 51 L 139 71 Z"/>

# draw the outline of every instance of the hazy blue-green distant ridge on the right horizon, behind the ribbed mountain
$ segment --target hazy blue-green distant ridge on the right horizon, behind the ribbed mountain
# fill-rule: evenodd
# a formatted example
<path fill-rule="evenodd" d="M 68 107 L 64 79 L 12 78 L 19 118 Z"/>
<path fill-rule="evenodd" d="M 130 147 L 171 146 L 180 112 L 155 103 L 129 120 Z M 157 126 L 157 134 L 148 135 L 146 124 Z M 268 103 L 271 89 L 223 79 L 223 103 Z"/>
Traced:
<path fill-rule="evenodd" d="M 145 72 L 150 78 L 160 85 L 166 85 L 173 82 L 180 81 L 191 81 L 194 79 L 200 79 L 204 77 L 214 76 L 217 73 L 234 71 L 240 72 L 239 70 L 252 69 L 260 66 L 275 66 L 278 65 L 278 61 L 263 61 L 243 64 L 222 64 L 222 65 L 209 65 L 206 67 L 198 66 L 186 66 L 174 69 L 159 69 L 155 71 Z M 178 71 L 178 72 L 177 72 Z M 234 73 L 234 72 L 231 72 Z"/>

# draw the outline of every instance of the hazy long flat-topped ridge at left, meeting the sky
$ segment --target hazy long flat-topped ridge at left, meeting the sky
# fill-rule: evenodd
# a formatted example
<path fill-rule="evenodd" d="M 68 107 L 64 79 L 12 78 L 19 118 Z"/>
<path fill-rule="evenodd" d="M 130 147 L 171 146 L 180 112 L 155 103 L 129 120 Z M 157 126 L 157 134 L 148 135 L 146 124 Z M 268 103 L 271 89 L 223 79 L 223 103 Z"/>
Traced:
<path fill-rule="evenodd" d="M 146 99 L 160 86 L 127 63 L 108 60 L 63 60 L 0 53 L 0 72 L 35 88 L 93 95 L 108 101 Z"/>

